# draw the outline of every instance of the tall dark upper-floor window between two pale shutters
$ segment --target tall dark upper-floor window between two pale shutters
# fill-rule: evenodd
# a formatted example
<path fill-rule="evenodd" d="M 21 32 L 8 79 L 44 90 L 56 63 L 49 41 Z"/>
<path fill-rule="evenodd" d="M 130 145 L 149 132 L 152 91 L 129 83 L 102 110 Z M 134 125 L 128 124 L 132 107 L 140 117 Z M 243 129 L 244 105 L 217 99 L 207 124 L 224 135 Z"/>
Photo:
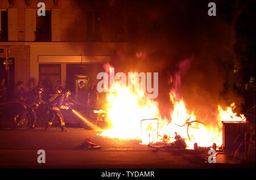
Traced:
<path fill-rule="evenodd" d="M 52 40 L 51 10 L 46 10 L 46 16 L 38 16 L 36 13 L 35 41 L 47 42 Z"/>

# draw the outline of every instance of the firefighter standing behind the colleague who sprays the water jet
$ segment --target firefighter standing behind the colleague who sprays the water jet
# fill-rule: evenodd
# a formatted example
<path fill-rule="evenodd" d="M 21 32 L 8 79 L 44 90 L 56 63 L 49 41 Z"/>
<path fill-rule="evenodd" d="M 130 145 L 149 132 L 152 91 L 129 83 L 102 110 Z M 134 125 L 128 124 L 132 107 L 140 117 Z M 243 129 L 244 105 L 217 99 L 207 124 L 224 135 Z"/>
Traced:
<path fill-rule="evenodd" d="M 43 92 L 43 88 L 38 86 L 34 89 L 34 91 L 32 91 L 31 93 L 29 93 L 27 100 L 25 101 L 25 103 L 27 105 L 31 105 L 32 108 L 29 108 L 27 106 L 24 106 L 24 111 L 22 113 L 22 115 L 28 115 L 28 126 L 30 128 L 35 128 L 35 122 L 36 122 L 36 110 L 38 109 L 38 106 L 41 104 L 42 102 L 42 92 Z"/>

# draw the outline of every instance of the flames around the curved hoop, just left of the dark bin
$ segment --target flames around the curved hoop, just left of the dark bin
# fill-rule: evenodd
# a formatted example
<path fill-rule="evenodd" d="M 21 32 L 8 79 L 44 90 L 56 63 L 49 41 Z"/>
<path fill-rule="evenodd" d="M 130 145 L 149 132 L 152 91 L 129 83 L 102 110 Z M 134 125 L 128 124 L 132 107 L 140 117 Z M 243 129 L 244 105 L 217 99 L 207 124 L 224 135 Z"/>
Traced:
<path fill-rule="evenodd" d="M 193 112 L 188 112 L 182 99 L 175 100 L 171 94 L 170 97 L 174 102 L 174 111 L 171 113 L 171 123 L 166 127 L 165 134 L 173 135 L 177 132 L 185 138 L 188 149 L 192 149 L 194 143 L 200 147 L 209 147 L 213 143 L 218 146 L 222 144 L 220 127 L 207 125 L 203 120 L 197 119 Z"/>

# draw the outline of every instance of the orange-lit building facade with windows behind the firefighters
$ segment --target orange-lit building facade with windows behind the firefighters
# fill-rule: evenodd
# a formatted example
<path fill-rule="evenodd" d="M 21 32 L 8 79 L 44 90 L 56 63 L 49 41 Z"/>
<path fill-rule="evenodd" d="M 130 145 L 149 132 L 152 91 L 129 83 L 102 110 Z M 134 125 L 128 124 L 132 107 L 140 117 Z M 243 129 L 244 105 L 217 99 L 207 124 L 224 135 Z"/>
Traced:
<path fill-rule="evenodd" d="M 10 89 L 30 79 L 96 82 L 102 65 L 127 49 L 126 13 L 114 0 L 0 0 L 0 12 L 0 76 Z"/>

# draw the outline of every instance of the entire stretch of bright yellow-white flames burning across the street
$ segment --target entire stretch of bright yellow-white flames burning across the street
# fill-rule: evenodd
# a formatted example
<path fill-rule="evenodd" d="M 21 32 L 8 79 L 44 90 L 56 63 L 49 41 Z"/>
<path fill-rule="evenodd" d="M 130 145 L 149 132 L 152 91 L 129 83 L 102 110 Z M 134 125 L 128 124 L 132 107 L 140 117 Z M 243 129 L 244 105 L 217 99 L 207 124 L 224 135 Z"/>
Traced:
<path fill-rule="evenodd" d="M 133 77 L 129 77 L 133 78 Z M 133 80 L 131 79 L 131 82 Z M 187 149 L 193 149 L 193 144 L 200 147 L 217 147 L 222 145 L 222 121 L 246 121 L 244 115 L 233 112 L 234 103 L 226 110 L 220 105 L 216 108 L 216 119 L 197 119 L 193 111 L 189 111 L 176 91 L 170 93 L 170 106 L 174 106 L 170 117 L 162 117 L 158 102 L 150 100 L 143 91 L 133 89 L 115 82 L 114 91 L 107 95 L 106 120 L 111 128 L 104 130 L 101 136 L 120 139 L 141 139 L 141 144 L 156 143 L 169 137 L 174 142 L 175 132 L 185 139 Z M 142 121 L 147 119 L 147 121 Z M 207 122 L 215 121 L 216 123 Z M 214 124 L 214 125 L 213 125 Z"/>

